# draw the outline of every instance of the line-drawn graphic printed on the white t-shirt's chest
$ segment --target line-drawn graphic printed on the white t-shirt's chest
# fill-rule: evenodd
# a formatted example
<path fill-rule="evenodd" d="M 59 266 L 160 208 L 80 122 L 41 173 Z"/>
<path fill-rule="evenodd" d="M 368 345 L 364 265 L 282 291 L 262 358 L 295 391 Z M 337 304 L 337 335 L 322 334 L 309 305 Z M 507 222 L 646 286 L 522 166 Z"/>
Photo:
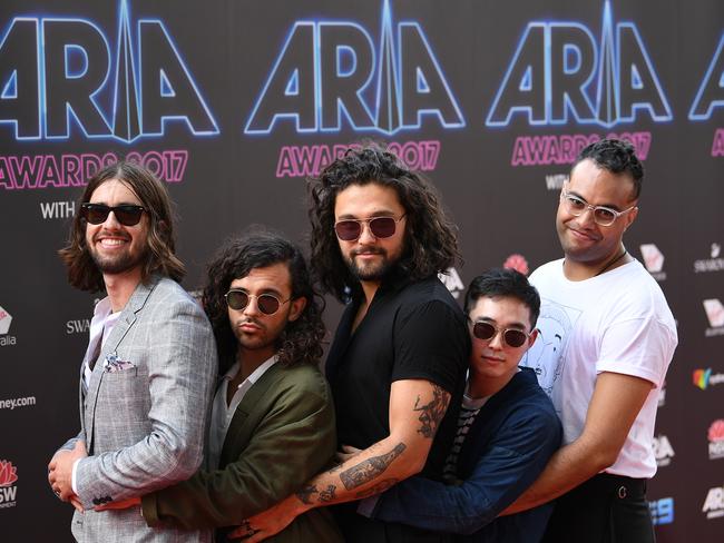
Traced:
<path fill-rule="evenodd" d="M 538 384 L 551 399 L 556 383 L 566 365 L 566 345 L 570 330 L 581 313 L 575 307 L 564 306 L 547 298 L 541 299 L 537 324 L 538 338 L 520 365 L 536 372 Z"/>

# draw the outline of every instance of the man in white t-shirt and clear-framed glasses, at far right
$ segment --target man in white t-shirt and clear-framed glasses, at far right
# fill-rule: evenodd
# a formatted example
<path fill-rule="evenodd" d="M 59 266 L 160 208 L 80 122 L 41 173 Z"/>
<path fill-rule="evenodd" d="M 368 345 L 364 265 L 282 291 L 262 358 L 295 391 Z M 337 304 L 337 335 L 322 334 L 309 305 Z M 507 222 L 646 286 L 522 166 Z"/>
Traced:
<path fill-rule="evenodd" d="M 657 283 L 622 241 L 638 215 L 634 148 L 586 147 L 564 185 L 556 228 L 565 257 L 530 282 L 542 298 L 538 373 L 564 425 L 564 446 L 505 513 L 558 498 L 545 541 L 654 541 L 646 481 L 658 394 L 677 344 Z"/>

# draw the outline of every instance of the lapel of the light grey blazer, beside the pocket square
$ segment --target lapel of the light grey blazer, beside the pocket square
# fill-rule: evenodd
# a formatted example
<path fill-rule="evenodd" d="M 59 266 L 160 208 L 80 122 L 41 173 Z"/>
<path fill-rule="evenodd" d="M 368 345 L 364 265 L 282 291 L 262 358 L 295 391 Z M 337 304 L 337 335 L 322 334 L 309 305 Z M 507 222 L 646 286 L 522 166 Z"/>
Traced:
<path fill-rule="evenodd" d="M 88 454 L 92 454 L 92 440 L 94 440 L 94 421 L 96 418 L 96 402 L 98 399 L 98 389 L 100 388 L 100 383 L 102 382 L 104 374 L 106 368 L 104 367 L 104 361 L 110 354 L 116 353 L 118 345 L 124 339 L 128 330 L 136 322 L 136 314 L 143 309 L 144 305 L 148 300 L 148 296 L 154 290 L 154 287 L 160 280 L 160 276 L 154 275 L 147 284 L 139 283 L 134 294 L 131 294 L 130 299 L 126 304 L 126 307 L 121 310 L 118 316 L 114 329 L 110 332 L 110 335 L 106 339 L 102 348 L 100 349 L 100 356 L 94 367 L 92 374 L 90 376 L 90 385 L 88 386 L 88 397 L 86 397 L 86 437 L 88 443 L 86 446 L 88 448 Z"/>

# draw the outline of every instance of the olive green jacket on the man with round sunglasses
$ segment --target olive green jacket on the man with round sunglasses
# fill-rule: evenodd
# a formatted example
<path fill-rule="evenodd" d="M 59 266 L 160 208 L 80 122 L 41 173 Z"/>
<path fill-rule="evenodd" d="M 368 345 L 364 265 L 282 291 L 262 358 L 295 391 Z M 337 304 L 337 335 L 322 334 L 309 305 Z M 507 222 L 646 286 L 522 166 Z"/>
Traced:
<path fill-rule="evenodd" d="M 334 407 L 319 368 L 274 364 L 248 389 L 226 433 L 219 470 L 143 497 L 150 526 L 224 527 L 217 541 L 321 472 L 336 447 Z M 329 511 L 300 515 L 270 542 L 341 542 Z"/>

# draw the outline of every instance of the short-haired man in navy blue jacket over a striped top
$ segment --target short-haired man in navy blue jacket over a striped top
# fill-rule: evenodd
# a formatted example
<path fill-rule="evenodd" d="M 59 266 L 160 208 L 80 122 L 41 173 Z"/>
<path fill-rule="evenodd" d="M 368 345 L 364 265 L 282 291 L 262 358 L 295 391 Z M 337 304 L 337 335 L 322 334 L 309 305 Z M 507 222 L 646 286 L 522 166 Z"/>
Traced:
<path fill-rule="evenodd" d="M 466 295 L 472 351 L 458 435 L 444 483 L 412 477 L 363 507 L 370 516 L 449 532 L 464 542 L 534 543 L 551 504 L 500 516 L 560 445 L 554 406 L 530 368 L 519 367 L 536 340 L 540 298 L 512 269 L 476 277 Z"/>

